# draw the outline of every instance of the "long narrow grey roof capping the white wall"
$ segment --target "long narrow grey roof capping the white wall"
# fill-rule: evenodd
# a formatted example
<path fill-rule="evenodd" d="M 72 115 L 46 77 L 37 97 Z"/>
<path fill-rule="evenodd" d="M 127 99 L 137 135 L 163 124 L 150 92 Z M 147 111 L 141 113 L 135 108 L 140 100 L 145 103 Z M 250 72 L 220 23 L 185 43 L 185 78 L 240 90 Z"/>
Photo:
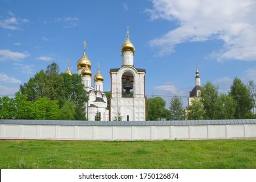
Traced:
<path fill-rule="evenodd" d="M 98 121 L 62 121 L 62 120 L 0 120 L 1 124 L 21 125 L 235 125 L 235 124 L 256 124 L 256 119 L 244 120 L 183 120 L 183 121 L 143 121 L 143 122 L 98 122 Z"/>

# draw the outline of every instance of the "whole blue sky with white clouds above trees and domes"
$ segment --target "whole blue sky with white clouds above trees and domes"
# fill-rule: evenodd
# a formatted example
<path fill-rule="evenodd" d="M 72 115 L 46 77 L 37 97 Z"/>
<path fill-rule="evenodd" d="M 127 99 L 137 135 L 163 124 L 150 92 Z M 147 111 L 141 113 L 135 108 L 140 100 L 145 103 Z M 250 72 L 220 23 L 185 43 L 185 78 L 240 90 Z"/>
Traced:
<path fill-rule="evenodd" d="M 70 59 L 76 73 L 83 41 L 92 77 L 99 62 L 109 91 L 128 26 L 147 98 L 162 96 L 169 105 L 176 95 L 187 105 L 196 66 L 201 85 L 227 93 L 235 77 L 256 83 L 255 9 L 255 0 L 1 0 L 0 96 L 14 96 L 51 62 L 65 72 Z"/>

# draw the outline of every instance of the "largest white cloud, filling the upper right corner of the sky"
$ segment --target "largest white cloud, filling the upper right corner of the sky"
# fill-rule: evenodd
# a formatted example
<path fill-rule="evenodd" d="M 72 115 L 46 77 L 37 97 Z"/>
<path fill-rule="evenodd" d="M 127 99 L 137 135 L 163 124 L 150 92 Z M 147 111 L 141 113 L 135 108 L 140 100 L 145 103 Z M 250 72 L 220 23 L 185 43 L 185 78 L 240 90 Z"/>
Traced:
<path fill-rule="evenodd" d="M 253 0 L 153 0 L 151 19 L 166 19 L 177 28 L 150 41 L 160 47 L 160 56 L 175 51 L 185 42 L 221 40 L 223 47 L 212 55 L 226 59 L 256 60 L 256 1 Z"/>

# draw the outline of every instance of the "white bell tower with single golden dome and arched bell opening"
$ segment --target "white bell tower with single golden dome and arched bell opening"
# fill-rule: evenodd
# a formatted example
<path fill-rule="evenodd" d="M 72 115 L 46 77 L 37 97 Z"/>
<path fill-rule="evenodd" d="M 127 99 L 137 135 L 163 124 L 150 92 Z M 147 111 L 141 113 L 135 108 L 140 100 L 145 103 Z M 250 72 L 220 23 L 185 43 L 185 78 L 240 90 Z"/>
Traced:
<path fill-rule="evenodd" d="M 135 47 L 130 42 L 129 29 L 126 41 L 122 44 L 122 66 L 110 70 L 111 121 L 145 121 L 146 96 L 145 96 L 145 69 L 134 66 Z"/>

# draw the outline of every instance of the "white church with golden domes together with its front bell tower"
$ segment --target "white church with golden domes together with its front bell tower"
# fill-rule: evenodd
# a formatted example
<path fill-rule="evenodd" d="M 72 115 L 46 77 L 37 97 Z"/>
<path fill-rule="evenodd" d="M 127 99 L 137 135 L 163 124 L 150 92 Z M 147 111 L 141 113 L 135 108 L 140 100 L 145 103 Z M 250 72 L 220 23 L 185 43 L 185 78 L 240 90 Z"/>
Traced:
<path fill-rule="evenodd" d="M 94 76 L 92 87 L 91 60 L 86 55 L 86 42 L 81 59 L 78 60 L 78 74 L 81 75 L 84 89 L 89 96 L 85 103 L 85 113 L 89 121 L 94 121 L 96 114 L 100 114 L 101 121 L 145 121 L 146 120 L 146 96 L 145 96 L 145 69 L 135 68 L 135 47 L 130 42 L 129 30 L 126 41 L 121 47 L 121 68 L 110 69 L 111 96 L 109 110 L 107 109 L 107 97 L 103 91 L 104 77 L 100 73 Z M 69 68 L 66 73 L 72 75 Z"/>

